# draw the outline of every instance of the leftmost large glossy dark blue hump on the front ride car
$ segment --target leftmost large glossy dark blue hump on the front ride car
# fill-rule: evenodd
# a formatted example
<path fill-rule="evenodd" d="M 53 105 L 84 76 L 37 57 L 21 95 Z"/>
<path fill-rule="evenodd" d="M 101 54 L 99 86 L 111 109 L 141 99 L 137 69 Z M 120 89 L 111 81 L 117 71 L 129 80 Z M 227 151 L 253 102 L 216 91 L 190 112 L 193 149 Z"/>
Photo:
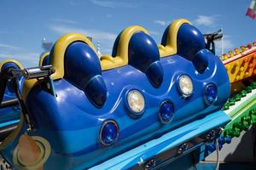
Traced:
<path fill-rule="evenodd" d="M 100 60 L 86 43 L 73 42 L 67 47 L 64 67 L 64 78 L 68 82 L 84 90 L 93 105 L 104 105 L 107 89 L 102 80 Z"/>

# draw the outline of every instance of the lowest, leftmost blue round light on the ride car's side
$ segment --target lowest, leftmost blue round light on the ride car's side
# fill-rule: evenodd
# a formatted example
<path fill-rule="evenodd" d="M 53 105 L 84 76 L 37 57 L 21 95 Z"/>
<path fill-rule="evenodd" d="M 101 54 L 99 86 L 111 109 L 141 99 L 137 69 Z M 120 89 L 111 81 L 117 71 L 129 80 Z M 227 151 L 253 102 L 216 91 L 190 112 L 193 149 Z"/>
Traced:
<path fill-rule="evenodd" d="M 104 122 L 102 125 L 100 139 L 102 144 L 111 145 L 113 144 L 119 136 L 119 127 L 114 121 Z"/>

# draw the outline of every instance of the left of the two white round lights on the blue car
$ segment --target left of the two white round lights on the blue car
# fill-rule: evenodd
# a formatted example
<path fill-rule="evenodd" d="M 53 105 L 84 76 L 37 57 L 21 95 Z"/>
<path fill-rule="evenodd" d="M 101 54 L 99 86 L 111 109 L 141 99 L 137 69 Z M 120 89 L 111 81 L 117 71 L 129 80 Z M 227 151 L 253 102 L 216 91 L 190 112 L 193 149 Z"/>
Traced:
<path fill-rule="evenodd" d="M 135 116 L 143 114 L 145 108 L 145 99 L 143 94 L 138 90 L 131 90 L 127 94 L 127 102 L 130 111 Z"/>

